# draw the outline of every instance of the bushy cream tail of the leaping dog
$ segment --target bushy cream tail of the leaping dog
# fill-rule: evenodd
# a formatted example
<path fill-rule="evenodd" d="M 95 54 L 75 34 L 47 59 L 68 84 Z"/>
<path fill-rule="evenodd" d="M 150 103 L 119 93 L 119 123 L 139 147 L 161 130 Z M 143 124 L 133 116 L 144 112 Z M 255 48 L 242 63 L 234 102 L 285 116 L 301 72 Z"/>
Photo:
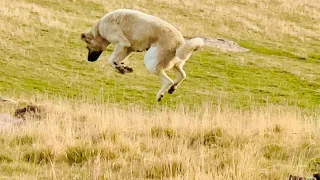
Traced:
<path fill-rule="evenodd" d="M 201 38 L 186 40 L 186 43 L 176 50 L 176 56 L 179 59 L 186 61 L 189 59 L 193 51 L 197 51 L 202 46 L 204 46 L 204 41 Z"/>

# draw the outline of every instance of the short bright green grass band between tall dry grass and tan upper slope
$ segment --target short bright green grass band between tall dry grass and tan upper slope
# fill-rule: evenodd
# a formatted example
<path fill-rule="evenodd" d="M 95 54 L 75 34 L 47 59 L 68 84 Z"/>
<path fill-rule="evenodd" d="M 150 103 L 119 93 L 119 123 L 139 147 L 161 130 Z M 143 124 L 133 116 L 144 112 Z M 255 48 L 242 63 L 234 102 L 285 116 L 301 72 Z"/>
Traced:
<path fill-rule="evenodd" d="M 76 40 L 77 34 L 74 36 Z M 80 44 L 79 46 L 81 47 Z M 71 51 L 74 47 L 67 48 Z M 62 47 L 54 49 L 58 54 L 63 53 Z M 292 54 L 277 50 L 251 50 L 251 54 L 272 55 L 279 61 L 297 59 Z M 83 49 L 83 55 L 85 53 Z M 87 97 L 93 101 L 103 99 L 124 104 L 137 101 L 146 105 L 154 104 L 154 94 L 160 84 L 156 76 L 145 70 L 143 53 L 130 58 L 135 72 L 127 75 L 119 75 L 107 68 L 107 56 L 110 55 L 110 51 L 104 53 L 98 63 L 86 62 L 85 57 L 81 61 L 72 59 L 67 55 L 34 52 L 32 56 L 24 58 L 25 63 L 29 65 L 17 65 L 13 60 L 4 59 L 1 61 L 1 66 L 6 67 L 1 70 L 2 93 L 40 93 L 72 99 Z M 259 61 L 252 60 L 251 63 L 241 64 L 237 60 L 239 56 L 246 58 L 246 55 L 217 54 L 211 50 L 195 53 L 185 66 L 187 79 L 174 95 L 165 96 L 162 104 L 194 104 L 208 99 L 212 102 L 222 99 L 224 103 L 233 104 L 235 107 L 252 104 L 289 104 L 315 108 L 320 104 L 320 83 L 304 80 L 281 67 L 261 67 Z M 101 64 L 105 67 L 102 68 Z M 19 73 L 21 71 L 23 73 Z M 136 71 L 139 71 L 139 74 Z"/>

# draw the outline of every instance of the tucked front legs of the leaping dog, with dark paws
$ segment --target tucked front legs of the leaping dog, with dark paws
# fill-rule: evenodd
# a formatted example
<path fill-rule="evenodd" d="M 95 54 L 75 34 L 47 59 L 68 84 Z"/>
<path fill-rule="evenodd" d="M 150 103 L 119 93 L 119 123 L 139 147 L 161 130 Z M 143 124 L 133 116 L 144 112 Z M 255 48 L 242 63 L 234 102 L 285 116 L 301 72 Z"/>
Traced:
<path fill-rule="evenodd" d="M 133 52 L 131 48 L 123 47 L 119 44 L 115 45 L 114 50 L 109 59 L 109 63 L 117 69 L 121 74 L 132 72 L 133 69 L 129 66 L 125 66 L 123 61 L 130 56 Z"/>

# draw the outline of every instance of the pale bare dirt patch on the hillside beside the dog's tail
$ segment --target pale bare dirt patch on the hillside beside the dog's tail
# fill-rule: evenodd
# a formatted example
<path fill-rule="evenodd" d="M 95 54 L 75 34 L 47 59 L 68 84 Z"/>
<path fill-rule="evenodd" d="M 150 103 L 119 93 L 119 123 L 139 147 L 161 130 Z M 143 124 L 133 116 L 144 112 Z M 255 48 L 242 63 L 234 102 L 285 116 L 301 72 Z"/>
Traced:
<path fill-rule="evenodd" d="M 195 37 L 184 37 L 186 40 L 195 38 Z M 248 52 L 249 49 L 241 47 L 239 44 L 234 41 L 224 39 L 224 38 L 214 38 L 214 37 L 200 37 L 204 40 L 205 46 L 213 47 L 220 49 L 223 52 Z"/>

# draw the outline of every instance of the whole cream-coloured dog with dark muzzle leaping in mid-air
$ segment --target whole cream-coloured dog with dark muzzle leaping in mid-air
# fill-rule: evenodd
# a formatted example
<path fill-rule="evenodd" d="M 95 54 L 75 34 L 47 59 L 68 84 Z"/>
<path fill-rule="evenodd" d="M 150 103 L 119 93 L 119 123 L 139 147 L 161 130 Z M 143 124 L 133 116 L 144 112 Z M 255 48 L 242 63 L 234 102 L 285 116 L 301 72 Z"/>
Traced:
<path fill-rule="evenodd" d="M 109 62 L 120 73 L 132 72 L 132 68 L 122 63 L 131 53 L 147 51 L 146 68 L 162 80 L 157 101 L 169 88 L 169 93 L 173 93 L 186 78 L 185 61 L 204 45 L 201 38 L 185 41 L 179 30 L 160 18 L 130 9 L 107 13 L 87 33 L 82 33 L 81 38 L 87 43 L 89 61 L 97 60 L 113 44 Z M 174 81 L 165 73 L 170 69 L 176 72 Z"/>

